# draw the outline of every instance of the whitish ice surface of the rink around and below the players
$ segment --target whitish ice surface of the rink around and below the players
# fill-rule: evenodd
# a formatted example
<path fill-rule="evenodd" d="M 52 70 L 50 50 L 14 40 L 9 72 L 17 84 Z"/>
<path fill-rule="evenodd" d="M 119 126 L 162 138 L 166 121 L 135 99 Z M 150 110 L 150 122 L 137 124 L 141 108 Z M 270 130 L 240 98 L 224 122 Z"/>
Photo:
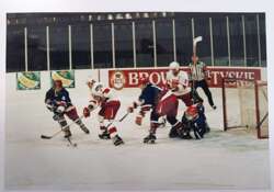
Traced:
<path fill-rule="evenodd" d="M 187 189 L 270 189 L 269 140 L 256 139 L 246 131 L 222 132 L 220 89 L 212 89 L 217 110 L 206 115 L 212 132 L 202 140 L 168 137 L 169 125 L 158 129 L 157 144 L 145 145 L 149 115 L 140 127 L 128 115 L 117 128 L 125 145 L 115 147 L 100 140 L 96 115 L 84 123 L 91 134 L 72 126 L 77 148 L 68 147 L 61 135 L 43 140 L 41 134 L 59 126 L 44 104 L 45 89 L 16 91 L 7 81 L 5 189 L 8 190 L 187 190 Z M 69 89 L 81 113 L 88 103 L 84 82 Z M 78 86 L 78 84 L 77 84 Z M 48 87 L 49 88 L 49 87 Z M 81 91 L 79 91 L 81 90 Z M 123 116 L 140 90 L 116 92 L 122 100 L 117 118 Z M 203 98 L 205 95 L 199 90 Z M 180 105 L 183 111 L 184 105 Z M 235 115 L 239 115 L 236 114 Z"/>

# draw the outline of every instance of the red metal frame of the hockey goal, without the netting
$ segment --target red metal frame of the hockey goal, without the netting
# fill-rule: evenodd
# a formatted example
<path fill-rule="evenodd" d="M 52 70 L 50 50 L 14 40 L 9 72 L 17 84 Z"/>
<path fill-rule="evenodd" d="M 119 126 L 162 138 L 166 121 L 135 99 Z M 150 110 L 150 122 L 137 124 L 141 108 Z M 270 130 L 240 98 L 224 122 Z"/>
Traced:
<path fill-rule="evenodd" d="M 260 114 L 260 98 L 259 98 L 259 87 L 260 86 L 266 86 L 266 81 L 261 81 L 261 80 L 249 80 L 249 79 L 236 79 L 236 78 L 222 78 L 221 82 L 221 95 L 222 95 L 222 115 L 224 115 L 224 131 L 228 131 L 231 128 L 237 128 L 240 126 L 228 126 L 228 114 L 227 114 L 227 98 L 226 98 L 226 83 L 237 83 L 238 81 L 246 81 L 246 82 L 251 82 L 254 83 L 254 98 L 255 98 L 255 129 L 256 129 L 256 137 L 259 139 L 265 139 L 269 138 L 269 131 L 267 131 L 267 136 L 262 134 L 262 124 L 269 116 L 269 110 L 264 116 L 261 116 Z M 237 89 L 237 86 L 235 87 Z M 267 97 L 267 95 L 266 95 Z M 267 101 L 267 98 L 266 98 Z"/>

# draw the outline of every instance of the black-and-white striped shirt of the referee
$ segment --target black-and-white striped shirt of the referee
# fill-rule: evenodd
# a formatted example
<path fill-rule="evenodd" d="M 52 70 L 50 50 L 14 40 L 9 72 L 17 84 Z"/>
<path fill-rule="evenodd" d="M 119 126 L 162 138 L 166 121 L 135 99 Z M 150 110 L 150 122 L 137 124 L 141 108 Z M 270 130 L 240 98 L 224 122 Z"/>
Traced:
<path fill-rule="evenodd" d="M 205 79 L 206 76 L 206 65 L 203 61 L 197 61 L 196 65 L 193 63 L 190 64 L 191 69 L 191 80 L 201 81 Z"/>

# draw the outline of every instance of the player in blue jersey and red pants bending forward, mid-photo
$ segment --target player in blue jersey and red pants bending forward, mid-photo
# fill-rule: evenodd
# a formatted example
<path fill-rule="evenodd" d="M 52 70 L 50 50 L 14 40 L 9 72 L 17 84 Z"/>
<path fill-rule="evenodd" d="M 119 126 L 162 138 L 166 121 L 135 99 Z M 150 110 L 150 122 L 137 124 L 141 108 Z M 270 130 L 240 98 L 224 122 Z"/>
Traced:
<path fill-rule="evenodd" d="M 156 131 L 160 124 L 159 117 L 167 116 L 167 121 L 179 133 L 181 138 L 187 138 L 189 134 L 182 129 L 182 123 L 176 120 L 178 99 L 172 91 L 161 90 L 155 84 L 150 83 L 147 78 L 140 78 L 141 94 L 138 101 L 128 108 L 128 112 L 140 106 L 140 112 L 136 117 L 136 123 L 140 125 L 141 118 L 146 112 L 151 110 L 150 113 L 150 129 L 149 135 L 144 138 L 144 143 L 155 143 L 157 139 Z"/>

